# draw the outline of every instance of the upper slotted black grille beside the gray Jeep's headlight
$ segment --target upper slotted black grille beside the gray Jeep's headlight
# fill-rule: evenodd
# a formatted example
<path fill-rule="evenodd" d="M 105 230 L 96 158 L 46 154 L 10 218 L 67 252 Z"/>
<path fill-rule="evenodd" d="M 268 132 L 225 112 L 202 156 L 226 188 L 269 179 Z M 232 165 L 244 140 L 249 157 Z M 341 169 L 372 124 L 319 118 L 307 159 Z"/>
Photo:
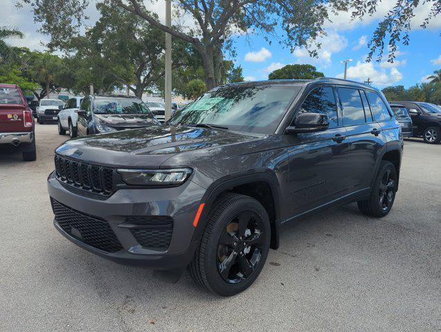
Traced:
<path fill-rule="evenodd" d="M 55 155 L 55 173 L 59 181 L 82 190 L 106 196 L 114 192 L 115 169 L 113 168 Z"/>

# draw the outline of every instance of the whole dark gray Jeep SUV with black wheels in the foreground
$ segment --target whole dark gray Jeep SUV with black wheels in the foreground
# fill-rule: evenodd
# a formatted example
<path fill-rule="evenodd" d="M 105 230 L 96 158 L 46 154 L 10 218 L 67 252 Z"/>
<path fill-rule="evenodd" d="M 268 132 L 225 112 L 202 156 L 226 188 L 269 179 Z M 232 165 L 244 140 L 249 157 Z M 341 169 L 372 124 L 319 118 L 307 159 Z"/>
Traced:
<path fill-rule="evenodd" d="M 386 216 L 402 134 L 384 96 L 336 79 L 221 86 L 164 126 L 75 138 L 48 177 L 54 225 L 121 264 L 234 295 L 280 225 L 342 203 Z"/>

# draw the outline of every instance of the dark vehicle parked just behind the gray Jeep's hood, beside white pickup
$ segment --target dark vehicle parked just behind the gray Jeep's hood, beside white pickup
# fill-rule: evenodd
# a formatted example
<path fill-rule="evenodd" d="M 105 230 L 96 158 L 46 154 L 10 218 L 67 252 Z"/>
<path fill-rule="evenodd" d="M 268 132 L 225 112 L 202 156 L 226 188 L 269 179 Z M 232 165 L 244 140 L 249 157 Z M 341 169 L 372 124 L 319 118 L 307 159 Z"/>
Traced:
<path fill-rule="evenodd" d="M 78 110 L 78 136 L 159 125 L 141 99 L 128 96 L 89 96 Z"/>

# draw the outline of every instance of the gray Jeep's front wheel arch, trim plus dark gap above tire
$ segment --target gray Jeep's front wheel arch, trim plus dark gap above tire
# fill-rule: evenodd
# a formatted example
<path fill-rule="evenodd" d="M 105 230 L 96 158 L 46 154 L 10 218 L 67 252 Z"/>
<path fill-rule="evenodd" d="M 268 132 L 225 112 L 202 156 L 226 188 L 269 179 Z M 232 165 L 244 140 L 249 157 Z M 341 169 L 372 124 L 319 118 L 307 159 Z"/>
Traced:
<path fill-rule="evenodd" d="M 228 177 L 228 178 L 226 178 Z M 276 174 L 271 170 L 265 170 L 253 174 L 237 175 L 233 178 L 225 176 L 215 181 L 204 194 L 201 203 L 204 210 L 199 218 L 199 223 L 193 237 L 194 241 L 200 241 L 208 223 L 208 215 L 215 201 L 226 192 L 235 192 L 251 196 L 259 201 L 269 216 L 271 224 L 271 248 L 279 246 L 280 229 L 280 186 Z"/>

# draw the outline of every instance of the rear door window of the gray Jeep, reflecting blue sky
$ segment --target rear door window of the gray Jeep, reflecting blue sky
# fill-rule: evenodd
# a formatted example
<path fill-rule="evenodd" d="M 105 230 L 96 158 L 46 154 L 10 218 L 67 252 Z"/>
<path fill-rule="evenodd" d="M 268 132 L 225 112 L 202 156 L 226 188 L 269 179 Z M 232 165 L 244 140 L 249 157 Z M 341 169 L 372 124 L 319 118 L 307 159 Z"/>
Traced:
<path fill-rule="evenodd" d="M 343 125 L 354 126 L 366 122 L 364 116 L 363 103 L 357 89 L 339 88 L 337 89 L 343 107 Z"/>

